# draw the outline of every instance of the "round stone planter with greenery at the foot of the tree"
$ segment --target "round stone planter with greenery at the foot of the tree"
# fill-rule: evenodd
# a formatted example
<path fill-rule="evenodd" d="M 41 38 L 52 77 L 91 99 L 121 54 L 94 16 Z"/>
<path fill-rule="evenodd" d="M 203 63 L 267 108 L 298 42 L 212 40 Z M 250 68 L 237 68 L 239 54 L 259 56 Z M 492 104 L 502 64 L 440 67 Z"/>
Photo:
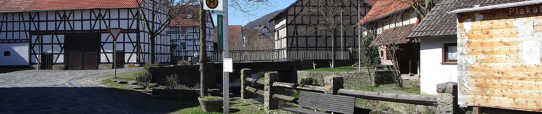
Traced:
<path fill-rule="evenodd" d="M 198 100 L 199 104 L 202 106 L 203 112 L 217 112 L 222 110 L 224 98 L 205 96 L 198 97 Z"/>

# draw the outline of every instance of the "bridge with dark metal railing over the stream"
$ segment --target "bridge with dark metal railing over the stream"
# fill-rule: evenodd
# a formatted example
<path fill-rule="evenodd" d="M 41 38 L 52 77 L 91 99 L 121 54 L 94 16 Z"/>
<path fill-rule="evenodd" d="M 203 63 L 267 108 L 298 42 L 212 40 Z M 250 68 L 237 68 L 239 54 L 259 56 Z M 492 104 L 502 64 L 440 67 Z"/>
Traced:
<path fill-rule="evenodd" d="M 215 65 L 216 74 L 222 74 L 222 50 L 208 51 L 210 61 Z M 346 65 L 353 58 L 350 50 L 335 51 L 335 65 Z M 297 82 L 298 70 L 313 69 L 318 65 L 329 67 L 331 49 L 278 49 L 278 50 L 230 50 L 234 72 L 252 69 L 254 72 L 276 71 L 281 74 L 281 82 Z M 217 77 L 220 77 L 218 75 Z M 232 76 L 235 77 L 235 76 Z"/>

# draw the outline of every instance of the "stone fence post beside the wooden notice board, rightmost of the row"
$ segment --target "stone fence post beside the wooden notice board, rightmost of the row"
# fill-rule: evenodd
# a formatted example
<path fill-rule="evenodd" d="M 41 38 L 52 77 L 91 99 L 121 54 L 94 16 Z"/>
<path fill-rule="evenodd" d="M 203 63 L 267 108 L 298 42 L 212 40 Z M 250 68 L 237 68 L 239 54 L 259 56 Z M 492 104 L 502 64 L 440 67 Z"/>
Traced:
<path fill-rule="evenodd" d="M 437 84 L 437 113 L 459 113 L 457 105 L 457 83 Z"/>

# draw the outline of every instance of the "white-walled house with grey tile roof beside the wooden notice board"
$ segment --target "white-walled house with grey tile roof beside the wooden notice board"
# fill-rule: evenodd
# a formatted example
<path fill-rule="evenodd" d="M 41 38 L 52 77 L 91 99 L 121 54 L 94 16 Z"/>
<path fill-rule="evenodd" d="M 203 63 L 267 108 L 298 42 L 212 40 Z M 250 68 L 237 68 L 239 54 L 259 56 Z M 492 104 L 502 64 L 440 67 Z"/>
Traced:
<path fill-rule="evenodd" d="M 457 23 L 449 11 L 517 1 L 438 1 L 406 38 L 420 41 L 421 92 L 436 95 L 436 84 L 457 82 Z"/>

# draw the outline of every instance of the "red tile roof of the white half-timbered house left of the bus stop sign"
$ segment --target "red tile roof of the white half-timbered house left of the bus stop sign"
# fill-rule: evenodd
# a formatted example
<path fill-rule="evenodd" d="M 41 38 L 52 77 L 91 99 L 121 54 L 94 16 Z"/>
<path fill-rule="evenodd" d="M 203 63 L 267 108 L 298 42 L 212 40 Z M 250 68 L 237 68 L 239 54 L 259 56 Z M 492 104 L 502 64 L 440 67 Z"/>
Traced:
<path fill-rule="evenodd" d="M 199 26 L 198 5 L 186 5 L 179 9 L 182 9 L 182 11 L 180 11 L 176 19 L 171 20 L 171 26 Z M 188 15 L 192 15 L 192 18 L 187 18 Z"/>

